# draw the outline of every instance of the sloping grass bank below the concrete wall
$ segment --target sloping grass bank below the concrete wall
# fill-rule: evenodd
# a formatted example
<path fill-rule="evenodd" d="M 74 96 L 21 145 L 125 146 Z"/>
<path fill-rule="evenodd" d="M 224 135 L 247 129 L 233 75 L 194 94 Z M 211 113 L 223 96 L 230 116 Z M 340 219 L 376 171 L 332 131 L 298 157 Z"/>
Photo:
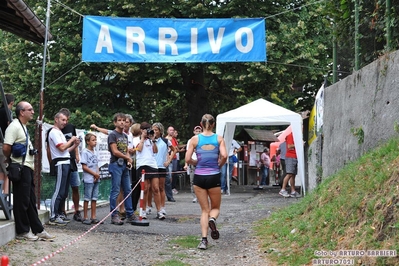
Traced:
<path fill-rule="evenodd" d="M 259 221 L 255 230 L 273 265 L 309 265 L 320 258 L 316 251 L 399 251 L 398 196 L 399 139 L 392 139 L 324 180 L 300 202 Z M 399 265 L 398 257 L 350 259 Z"/>

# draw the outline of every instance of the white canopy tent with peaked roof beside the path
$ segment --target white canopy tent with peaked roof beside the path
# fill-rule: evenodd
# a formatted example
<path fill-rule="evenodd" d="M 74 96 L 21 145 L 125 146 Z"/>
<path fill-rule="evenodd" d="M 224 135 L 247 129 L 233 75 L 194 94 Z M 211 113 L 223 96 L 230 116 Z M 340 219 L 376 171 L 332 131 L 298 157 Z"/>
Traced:
<path fill-rule="evenodd" d="M 216 134 L 224 136 L 227 149 L 231 145 L 237 125 L 291 125 L 298 157 L 297 177 L 301 180 L 305 194 L 305 161 L 301 115 L 264 99 L 258 99 L 237 109 L 219 114 L 216 118 Z M 229 174 L 229 171 L 227 171 L 227 174 Z"/>

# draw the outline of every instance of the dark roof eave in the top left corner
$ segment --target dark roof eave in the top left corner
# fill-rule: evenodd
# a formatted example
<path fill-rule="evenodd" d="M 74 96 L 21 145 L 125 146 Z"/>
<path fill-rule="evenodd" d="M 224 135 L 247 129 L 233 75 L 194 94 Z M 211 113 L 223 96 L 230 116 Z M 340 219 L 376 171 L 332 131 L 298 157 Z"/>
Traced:
<path fill-rule="evenodd" d="M 0 0 L 0 29 L 26 40 L 44 43 L 46 26 L 22 0 Z M 48 34 L 51 40 L 51 34 Z"/>

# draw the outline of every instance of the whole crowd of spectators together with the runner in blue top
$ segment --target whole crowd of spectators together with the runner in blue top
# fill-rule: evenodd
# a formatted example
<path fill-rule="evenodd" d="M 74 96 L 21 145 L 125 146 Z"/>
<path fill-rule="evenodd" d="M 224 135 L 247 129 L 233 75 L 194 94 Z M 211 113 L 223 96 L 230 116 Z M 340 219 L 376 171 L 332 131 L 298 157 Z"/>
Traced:
<path fill-rule="evenodd" d="M 7 96 L 8 110 L 11 110 L 14 100 L 12 95 Z M 33 145 L 26 128 L 27 122 L 33 119 L 34 110 L 28 102 L 21 101 L 16 105 L 15 114 L 16 118 L 12 121 L 7 120 L 7 123 L 3 123 L 2 120 L 4 143 L 1 144 L 0 177 L 6 180 L 6 161 L 22 165 L 22 179 L 13 182 L 17 238 L 52 240 L 54 236 L 44 230 L 34 204 L 36 202 L 33 183 L 35 153 L 30 153 Z M 0 109 L 0 115 L 4 116 L 2 109 Z M 83 140 L 79 139 L 75 126 L 69 123 L 69 119 L 69 110 L 60 109 L 54 116 L 53 127 L 46 132 L 50 174 L 56 177 L 51 198 L 49 224 L 65 226 L 70 222 L 65 211 L 69 187 L 72 188 L 74 203 L 73 219 L 87 225 L 96 224 L 100 222 L 96 215 L 96 204 L 101 181 L 98 158 L 95 153 L 97 137 L 94 133 L 87 133 L 84 138 L 86 148 L 79 152 L 78 147 Z M 124 113 L 116 113 L 113 124 L 112 130 L 100 128 L 95 124 L 90 126 L 91 129 L 108 135 L 111 223 L 123 225 L 125 222 L 134 223 L 137 219 L 147 219 L 147 215 L 151 214 L 151 208 L 155 208 L 157 219 L 164 220 L 166 218 L 165 202 L 175 202 L 173 196 L 178 193 L 176 174 L 180 165 L 179 153 L 186 151 L 183 169 L 190 177 L 192 202 L 198 202 L 201 207 L 202 239 L 198 248 L 206 249 L 209 229 L 213 239 L 219 238 L 216 220 L 220 213 L 221 195 L 228 193 L 227 183 L 231 181 L 227 180 L 227 169 L 231 178 L 234 157 L 241 151 L 241 146 L 233 140 L 231 146 L 226 148 L 223 137 L 213 133 L 216 121 L 210 114 L 205 114 L 200 125 L 194 127 L 193 137 L 188 140 L 185 147 L 179 145 L 177 130 L 172 126 L 167 128 L 165 134 L 165 128 L 161 123 L 156 122 L 152 125 L 148 122 L 137 123 L 131 115 Z M 28 144 L 23 157 L 13 154 L 15 143 Z M 287 174 L 279 194 L 284 197 L 296 197 L 299 196 L 295 191 L 297 162 L 292 134 L 287 136 L 286 145 L 285 158 L 280 156 L 281 149 L 272 159 L 270 159 L 268 148 L 265 148 L 261 154 L 261 185 L 269 183 L 271 162 L 277 166 L 285 163 Z M 83 217 L 79 210 L 81 181 L 77 163 L 80 163 L 83 169 Z M 143 174 L 144 198 L 143 204 L 139 206 L 141 187 L 137 183 Z M 285 190 L 288 183 L 291 185 L 291 193 Z M 8 186 L 3 186 L 3 189 L 8 192 Z"/>

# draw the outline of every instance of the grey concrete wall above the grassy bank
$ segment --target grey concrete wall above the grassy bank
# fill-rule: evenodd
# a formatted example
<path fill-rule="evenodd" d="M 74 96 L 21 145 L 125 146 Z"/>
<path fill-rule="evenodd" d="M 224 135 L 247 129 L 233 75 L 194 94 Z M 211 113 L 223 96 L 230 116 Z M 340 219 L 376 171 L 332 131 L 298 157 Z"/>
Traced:
<path fill-rule="evenodd" d="M 323 178 L 334 174 L 346 163 L 398 135 L 397 127 L 398 51 L 325 89 L 324 139 L 319 137 L 308 149 L 312 151 L 308 154 L 309 188 L 315 187 L 321 169 Z M 318 153 L 321 142 L 322 151 Z"/>

